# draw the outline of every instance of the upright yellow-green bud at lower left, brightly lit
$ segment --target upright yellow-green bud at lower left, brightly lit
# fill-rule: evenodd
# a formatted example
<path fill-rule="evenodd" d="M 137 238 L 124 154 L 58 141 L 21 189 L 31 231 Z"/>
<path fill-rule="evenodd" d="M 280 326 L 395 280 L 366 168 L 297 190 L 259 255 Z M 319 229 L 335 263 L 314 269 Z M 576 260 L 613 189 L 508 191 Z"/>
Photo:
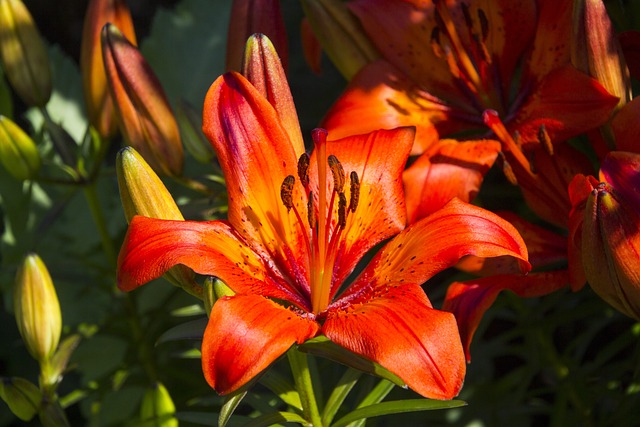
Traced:
<path fill-rule="evenodd" d="M 49 271 L 36 254 L 27 255 L 18 270 L 13 308 L 27 350 L 38 362 L 48 361 L 58 347 L 62 314 Z"/>

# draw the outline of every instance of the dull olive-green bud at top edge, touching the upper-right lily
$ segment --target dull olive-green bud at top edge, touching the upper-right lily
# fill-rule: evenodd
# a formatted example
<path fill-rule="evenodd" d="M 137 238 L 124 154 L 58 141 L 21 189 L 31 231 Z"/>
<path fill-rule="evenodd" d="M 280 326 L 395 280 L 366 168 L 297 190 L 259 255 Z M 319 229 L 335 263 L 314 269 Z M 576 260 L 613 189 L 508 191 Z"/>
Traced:
<path fill-rule="evenodd" d="M 340 73 L 351 78 L 378 52 L 342 0 L 303 0 L 302 7 L 322 48 Z"/>

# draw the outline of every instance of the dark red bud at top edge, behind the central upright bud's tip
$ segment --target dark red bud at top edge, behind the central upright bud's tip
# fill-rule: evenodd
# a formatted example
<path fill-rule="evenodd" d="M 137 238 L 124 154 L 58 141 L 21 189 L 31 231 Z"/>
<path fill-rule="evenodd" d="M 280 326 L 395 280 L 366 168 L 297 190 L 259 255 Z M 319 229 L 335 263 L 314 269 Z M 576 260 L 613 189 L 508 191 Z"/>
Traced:
<path fill-rule="evenodd" d="M 227 71 L 241 69 L 245 43 L 255 33 L 273 41 L 286 70 L 288 44 L 280 0 L 233 0 L 227 37 Z"/>

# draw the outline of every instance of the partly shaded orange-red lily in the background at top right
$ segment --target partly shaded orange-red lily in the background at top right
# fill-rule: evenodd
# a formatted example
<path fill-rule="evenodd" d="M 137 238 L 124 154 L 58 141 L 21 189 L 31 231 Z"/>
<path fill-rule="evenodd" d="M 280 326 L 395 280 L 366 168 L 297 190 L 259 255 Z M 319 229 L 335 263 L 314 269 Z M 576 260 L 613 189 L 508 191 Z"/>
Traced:
<path fill-rule="evenodd" d="M 617 98 L 569 65 L 572 0 L 355 0 L 384 59 L 367 65 L 323 125 L 335 138 L 416 126 L 413 154 L 438 135 L 484 129 L 495 110 L 535 142 L 605 123 Z"/>

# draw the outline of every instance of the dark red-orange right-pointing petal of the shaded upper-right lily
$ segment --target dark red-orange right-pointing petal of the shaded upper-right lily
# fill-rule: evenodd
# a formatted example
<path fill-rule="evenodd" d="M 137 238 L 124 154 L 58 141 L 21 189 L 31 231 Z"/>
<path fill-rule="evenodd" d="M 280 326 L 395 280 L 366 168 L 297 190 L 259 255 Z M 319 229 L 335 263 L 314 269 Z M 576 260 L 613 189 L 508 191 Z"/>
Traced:
<path fill-rule="evenodd" d="M 606 123 L 617 104 L 618 98 L 596 80 L 571 66 L 561 67 L 546 75 L 508 128 L 527 143 L 538 140 L 544 125 L 551 141 L 564 141 Z"/>

